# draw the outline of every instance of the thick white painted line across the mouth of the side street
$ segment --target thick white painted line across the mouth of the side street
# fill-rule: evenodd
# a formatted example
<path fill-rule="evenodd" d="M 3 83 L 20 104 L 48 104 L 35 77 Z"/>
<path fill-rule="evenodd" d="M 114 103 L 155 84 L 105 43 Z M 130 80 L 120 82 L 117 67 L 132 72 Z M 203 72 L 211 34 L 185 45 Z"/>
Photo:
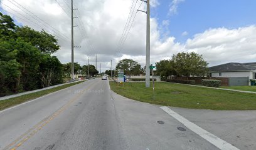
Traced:
<path fill-rule="evenodd" d="M 163 109 L 163 111 L 168 113 L 170 116 L 172 116 L 173 118 L 178 120 L 180 123 L 184 124 L 184 126 L 186 126 L 188 129 L 190 129 L 194 133 L 198 134 L 203 139 L 206 139 L 206 141 L 210 142 L 217 148 L 219 148 L 221 150 L 240 150 L 240 149 L 236 148 L 235 146 L 232 146 L 232 144 L 227 143 L 223 139 L 220 139 L 217 136 L 209 133 L 205 129 L 200 128 L 196 124 L 191 123 L 190 121 L 188 121 L 188 119 L 183 118 L 183 116 L 180 116 L 178 113 L 174 112 L 170 108 L 168 108 L 166 106 L 163 106 L 160 108 Z"/>

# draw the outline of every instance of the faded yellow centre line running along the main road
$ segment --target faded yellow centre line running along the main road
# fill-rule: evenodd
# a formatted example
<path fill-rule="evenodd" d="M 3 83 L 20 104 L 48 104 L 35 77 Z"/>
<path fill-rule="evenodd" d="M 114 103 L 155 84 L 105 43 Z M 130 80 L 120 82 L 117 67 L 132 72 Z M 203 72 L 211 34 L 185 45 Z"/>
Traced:
<path fill-rule="evenodd" d="M 99 81 L 97 83 L 99 83 Z M 88 89 L 93 88 L 93 86 L 95 86 L 97 83 L 92 84 L 91 86 L 88 86 L 88 88 L 83 89 L 83 91 L 87 91 Z M 21 136 L 19 136 L 18 139 L 16 139 L 15 141 L 13 141 L 13 143 L 11 143 L 8 146 L 6 146 L 6 148 L 4 148 L 3 150 L 7 150 L 7 149 L 11 148 L 12 146 L 14 146 L 14 144 L 16 144 L 16 143 L 18 143 L 18 141 L 20 141 L 20 143 L 16 144 L 16 146 L 11 148 L 11 150 L 16 150 L 17 148 L 19 148 L 19 146 L 21 146 L 24 142 L 28 141 L 28 139 L 30 139 L 32 136 L 34 136 L 38 131 L 40 131 L 44 126 L 46 126 L 46 124 L 50 123 L 51 120 L 56 118 L 63 111 L 65 111 L 69 106 L 71 106 L 71 104 L 73 102 L 75 102 L 78 98 L 80 98 L 80 96 L 82 96 L 82 94 L 83 94 L 83 92 L 79 93 L 75 98 L 73 98 L 70 101 L 68 101 L 68 103 L 65 104 L 65 106 L 62 106 L 60 109 L 58 109 L 58 111 L 55 111 L 55 113 L 52 114 L 50 117 L 40 121 L 40 123 L 36 124 L 35 126 L 33 126 L 33 128 L 29 129 L 26 133 L 24 133 Z"/>

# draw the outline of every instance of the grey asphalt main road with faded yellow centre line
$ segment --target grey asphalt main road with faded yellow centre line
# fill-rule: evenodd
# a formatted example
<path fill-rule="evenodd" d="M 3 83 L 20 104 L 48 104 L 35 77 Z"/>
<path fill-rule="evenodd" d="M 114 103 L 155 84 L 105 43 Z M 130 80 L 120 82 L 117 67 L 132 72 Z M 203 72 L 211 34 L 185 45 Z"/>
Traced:
<path fill-rule="evenodd" d="M 188 114 L 186 109 L 182 112 L 184 116 Z M 255 119 L 250 119 L 250 128 L 254 128 Z M 180 131 L 178 127 L 186 131 Z M 215 128 L 211 132 L 218 130 Z M 240 149 L 255 148 L 254 139 L 243 144 L 243 141 L 232 141 L 230 136 L 223 138 Z M 1 111 L 0 149 L 218 148 L 159 106 L 119 96 L 110 91 L 109 81 L 93 79 Z"/>

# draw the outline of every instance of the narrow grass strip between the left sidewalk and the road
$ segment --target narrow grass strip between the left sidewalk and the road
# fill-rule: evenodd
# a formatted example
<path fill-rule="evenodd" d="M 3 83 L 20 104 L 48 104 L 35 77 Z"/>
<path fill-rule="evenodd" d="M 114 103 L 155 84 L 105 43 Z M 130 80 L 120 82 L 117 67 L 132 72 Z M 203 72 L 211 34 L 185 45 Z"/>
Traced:
<path fill-rule="evenodd" d="M 6 100 L 2 100 L 2 101 L 0 101 L 0 110 L 10 108 L 11 106 L 15 106 L 17 104 L 21 104 L 21 103 L 24 103 L 26 101 L 29 101 L 29 100 L 32 100 L 32 99 L 35 99 L 35 98 L 40 98 L 41 96 L 44 96 L 46 94 L 50 94 L 50 93 L 53 93 L 55 91 L 59 91 L 61 89 L 65 89 L 65 88 L 68 88 L 70 86 L 74 86 L 76 84 L 83 83 L 83 82 L 85 82 L 85 81 L 78 81 L 77 83 L 65 84 L 63 86 L 58 86 L 56 88 L 46 89 L 46 90 L 43 90 L 43 91 L 38 91 L 36 93 L 25 94 L 23 96 L 18 96 L 16 98 L 10 98 L 10 99 L 6 99 Z"/>

